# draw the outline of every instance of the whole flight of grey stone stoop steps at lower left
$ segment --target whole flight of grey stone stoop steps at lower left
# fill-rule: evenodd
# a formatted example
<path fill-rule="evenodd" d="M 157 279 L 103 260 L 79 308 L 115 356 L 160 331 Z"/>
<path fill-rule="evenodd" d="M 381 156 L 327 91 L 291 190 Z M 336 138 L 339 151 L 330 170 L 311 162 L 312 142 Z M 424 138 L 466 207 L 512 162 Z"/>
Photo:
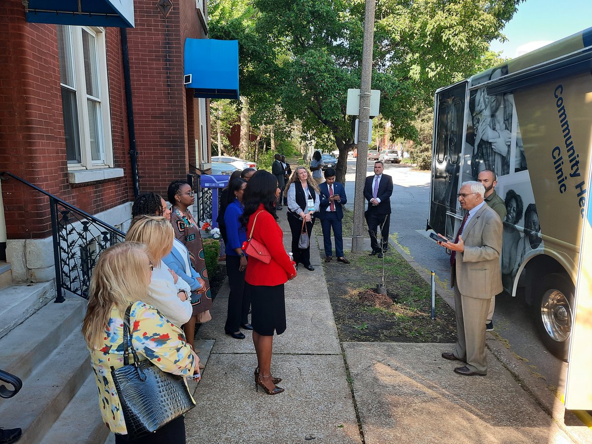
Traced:
<path fill-rule="evenodd" d="M 21 311 L 29 310 L 20 298 Z M 99 443 L 107 437 L 81 332 L 85 312 L 86 300 L 66 297 L 44 305 L 0 339 L 2 369 L 23 381 L 15 397 L 0 400 L 2 427 L 21 427 L 19 443 Z"/>

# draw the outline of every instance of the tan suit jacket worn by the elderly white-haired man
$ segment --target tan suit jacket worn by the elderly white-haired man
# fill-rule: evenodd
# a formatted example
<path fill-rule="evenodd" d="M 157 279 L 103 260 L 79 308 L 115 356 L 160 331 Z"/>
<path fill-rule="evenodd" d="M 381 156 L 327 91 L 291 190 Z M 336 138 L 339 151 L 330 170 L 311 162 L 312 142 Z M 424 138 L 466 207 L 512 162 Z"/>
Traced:
<path fill-rule="evenodd" d="M 456 266 L 451 268 L 451 287 L 471 298 L 489 299 L 501 293 L 500 217 L 483 205 L 462 231 L 465 251 L 456 252 Z"/>

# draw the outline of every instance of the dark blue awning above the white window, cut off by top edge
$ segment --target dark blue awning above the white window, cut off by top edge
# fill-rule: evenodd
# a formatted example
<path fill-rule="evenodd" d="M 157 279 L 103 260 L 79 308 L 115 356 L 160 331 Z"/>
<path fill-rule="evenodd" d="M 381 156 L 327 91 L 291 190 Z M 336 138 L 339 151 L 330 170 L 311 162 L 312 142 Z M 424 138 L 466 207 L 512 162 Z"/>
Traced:
<path fill-rule="evenodd" d="M 134 27 L 133 0 L 27 0 L 30 23 Z"/>

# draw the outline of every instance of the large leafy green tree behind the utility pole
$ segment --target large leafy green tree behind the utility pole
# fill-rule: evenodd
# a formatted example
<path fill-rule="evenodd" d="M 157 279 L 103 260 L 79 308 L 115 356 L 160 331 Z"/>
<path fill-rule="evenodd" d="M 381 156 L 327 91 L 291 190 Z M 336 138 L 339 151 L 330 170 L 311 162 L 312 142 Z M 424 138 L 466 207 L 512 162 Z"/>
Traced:
<path fill-rule="evenodd" d="M 417 139 L 416 111 L 439 86 L 465 78 L 522 0 L 379 0 L 372 88 L 397 137 Z M 364 0 L 212 0 L 210 36 L 239 40 L 242 94 L 269 96 L 315 139 L 331 137 L 345 181 L 355 117 Z"/>

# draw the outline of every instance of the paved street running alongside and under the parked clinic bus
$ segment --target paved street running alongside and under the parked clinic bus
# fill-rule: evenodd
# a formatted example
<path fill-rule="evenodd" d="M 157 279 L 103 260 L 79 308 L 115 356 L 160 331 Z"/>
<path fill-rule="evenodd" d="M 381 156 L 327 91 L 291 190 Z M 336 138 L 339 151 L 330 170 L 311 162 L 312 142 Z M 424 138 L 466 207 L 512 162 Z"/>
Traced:
<path fill-rule="evenodd" d="M 349 157 L 345 188 L 348 201 L 351 202 L 346 207 L 350 210 L 353 210 L 355 168 L 356 159 Z M 372 174 L 373 168 L 374 162 L 368 161 L 368 175 Z M 387 164 L 384 172 L 392 176 L 394 184 L 391 197 L 391 242 L 394 238 L 417 263 L 428 271 L 434 270 L 436 279 L 449 291 L 449 256 L 425 231 L 430 201 L 430 172 L 403 164 Z M 545 378 L 546 385 L 559 387 L 559 393 L 562 393 L 567 363 L 555 358 L 540 342 L 530 307 L 524 302 L 521 292 L 515 298 L 508 295 L 497 298 L 493 323 L 494 333 L 507 341 L 510 350 L 527 362 L 532 372 Z"/>

